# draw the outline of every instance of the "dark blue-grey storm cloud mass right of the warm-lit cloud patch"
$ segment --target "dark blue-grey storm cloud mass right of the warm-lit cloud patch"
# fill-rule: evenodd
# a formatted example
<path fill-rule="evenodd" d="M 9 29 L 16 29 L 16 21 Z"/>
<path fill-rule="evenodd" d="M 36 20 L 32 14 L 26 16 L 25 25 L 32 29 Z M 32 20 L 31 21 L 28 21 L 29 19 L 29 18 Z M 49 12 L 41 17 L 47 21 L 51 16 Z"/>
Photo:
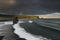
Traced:
<path fill-rule="evenodd" d="M 60 0 L 18 0 L 17 6 L 8 13 L 47 14 L 60 12 Z M 6 12 L 6 11 L 5 11 Z"/>

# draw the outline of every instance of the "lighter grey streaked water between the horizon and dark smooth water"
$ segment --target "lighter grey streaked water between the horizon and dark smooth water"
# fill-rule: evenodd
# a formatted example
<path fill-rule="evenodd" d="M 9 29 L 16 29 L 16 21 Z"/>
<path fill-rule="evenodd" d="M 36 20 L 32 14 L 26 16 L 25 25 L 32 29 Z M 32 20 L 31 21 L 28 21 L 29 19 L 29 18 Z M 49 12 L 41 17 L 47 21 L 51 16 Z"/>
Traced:
<path fill-rule="evenodd" d="M 37 19 L 34 22 L 42 26 L 60 30 L 60 19 Z"/>

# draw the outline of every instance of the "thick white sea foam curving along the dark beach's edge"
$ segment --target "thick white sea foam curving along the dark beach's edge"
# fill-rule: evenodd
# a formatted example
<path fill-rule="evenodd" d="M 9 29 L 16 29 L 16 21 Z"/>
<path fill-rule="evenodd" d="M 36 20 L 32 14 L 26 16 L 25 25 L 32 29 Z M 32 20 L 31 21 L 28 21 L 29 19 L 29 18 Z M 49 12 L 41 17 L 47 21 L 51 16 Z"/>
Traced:
<path fill-rule="evenodd" d="M 19 23 L 14 25 L 14 28 L 15 28 L 14 32 L 17 35 L 19 35 L 19 37 L 25 38 L 27 40 L 48 40 L 47 38 L 44 38 L 42 36 L 36 36 L 26 32 L 26 30 L 24 28 L 21 28 L 19 25 L 20 25 Z"/>

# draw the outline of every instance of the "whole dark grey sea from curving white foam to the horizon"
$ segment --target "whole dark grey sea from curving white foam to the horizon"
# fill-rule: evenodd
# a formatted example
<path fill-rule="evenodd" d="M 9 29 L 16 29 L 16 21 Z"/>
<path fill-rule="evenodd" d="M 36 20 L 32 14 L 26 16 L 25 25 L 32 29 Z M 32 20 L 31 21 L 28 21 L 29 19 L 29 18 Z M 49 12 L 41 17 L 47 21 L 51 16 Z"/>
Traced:
<path fill-rule="evenodd" d="M 59 20 L 60 19 L 35 19 L 32 23 L 20 23 L 20 26 L 33 35 L 43 36 L 52 40 L 60 40 Z"/>

